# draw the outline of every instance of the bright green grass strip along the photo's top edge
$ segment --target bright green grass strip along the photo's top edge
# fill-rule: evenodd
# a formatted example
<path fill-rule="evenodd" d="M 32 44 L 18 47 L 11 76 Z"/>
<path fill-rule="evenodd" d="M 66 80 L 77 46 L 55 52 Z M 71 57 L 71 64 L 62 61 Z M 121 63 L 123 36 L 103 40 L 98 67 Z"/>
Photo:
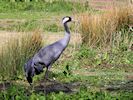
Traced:
<path fill-rule="evenodd" d="M 48 0 L 40 2 L 8 2 L 0 1 L 1 12 L 21 12 L 21 11 L 43 11 L 43 12 L 71 12 L 78 9 L 84 10 L 84 6 L 78 2 L 70 2 L 65 0 Z"/>

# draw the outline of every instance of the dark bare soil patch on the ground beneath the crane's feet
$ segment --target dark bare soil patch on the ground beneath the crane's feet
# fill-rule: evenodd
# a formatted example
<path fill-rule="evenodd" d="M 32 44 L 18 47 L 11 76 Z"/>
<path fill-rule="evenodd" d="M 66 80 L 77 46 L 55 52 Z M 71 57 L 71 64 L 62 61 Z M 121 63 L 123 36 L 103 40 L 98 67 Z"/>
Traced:
<path fill-rule="evenodd" d="M 77 92 L 80 87 L 79 82 L 71 82 L 71 83 L 61 83 L 61 82 L 41 82 L 40 85 L 34 87 L 35 92 L 44 92 L 45 94 L 49 94 L 51 92 L 59 93 L 73 93 Z"/>

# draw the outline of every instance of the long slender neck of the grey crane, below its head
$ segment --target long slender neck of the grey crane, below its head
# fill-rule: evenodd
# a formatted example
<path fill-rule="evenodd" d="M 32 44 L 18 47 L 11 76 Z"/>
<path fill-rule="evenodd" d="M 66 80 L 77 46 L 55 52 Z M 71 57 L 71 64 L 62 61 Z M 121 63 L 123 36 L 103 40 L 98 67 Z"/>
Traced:
<path fill-rule="evenodd" d="M 70 30 L 67 26 L 67 23 L 64 23 L 64 29 L 65 29 L 65 36 L 62 39 L 62 45 L 66 47 L 70 41 Z"/>

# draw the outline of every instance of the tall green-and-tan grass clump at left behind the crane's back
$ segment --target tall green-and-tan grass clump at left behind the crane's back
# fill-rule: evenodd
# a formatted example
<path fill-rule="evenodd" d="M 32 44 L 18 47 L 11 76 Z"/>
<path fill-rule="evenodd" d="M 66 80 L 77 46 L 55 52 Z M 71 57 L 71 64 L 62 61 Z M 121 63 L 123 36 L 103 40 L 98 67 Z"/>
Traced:
<path fill-rule="evenodd" d="M 22 78 L 24 63 L 42 46 L 39 32 L 9 39 L 0 53 L 0 80 Z"/>

